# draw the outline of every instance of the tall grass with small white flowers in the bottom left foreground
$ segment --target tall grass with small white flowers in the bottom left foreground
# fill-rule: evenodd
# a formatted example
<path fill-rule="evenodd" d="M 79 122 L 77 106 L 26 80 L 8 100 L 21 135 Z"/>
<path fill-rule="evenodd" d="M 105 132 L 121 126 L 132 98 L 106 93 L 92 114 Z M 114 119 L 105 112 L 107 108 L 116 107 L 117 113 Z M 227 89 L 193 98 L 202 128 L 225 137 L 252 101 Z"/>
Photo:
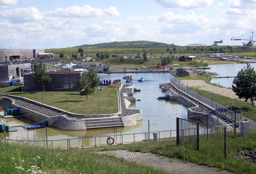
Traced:
<path fill-rule="evenodd" d="M 116 157 L 99 155 L 87 149 L 48 149 L 0 142 L 0 173 L 59 174 L 165 174 L 163 170 L 137 165 Z"/>

